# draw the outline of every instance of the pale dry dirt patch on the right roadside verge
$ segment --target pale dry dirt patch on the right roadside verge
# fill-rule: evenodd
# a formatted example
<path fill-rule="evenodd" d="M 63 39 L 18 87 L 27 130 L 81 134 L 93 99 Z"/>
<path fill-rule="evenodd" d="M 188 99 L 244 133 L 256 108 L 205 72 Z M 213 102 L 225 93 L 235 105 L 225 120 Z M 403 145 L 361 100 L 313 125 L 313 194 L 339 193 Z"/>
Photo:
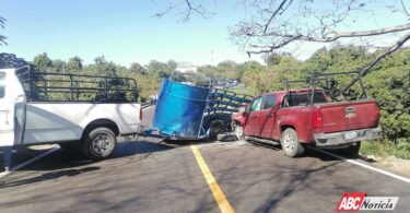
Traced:
<path fill-rule="evenodd" d="M 410 178 L 410 159 L 401 159 L 395 156 L 379 157 L 375 155 L 363 155 L 361 158 L 391 173 Z"/>

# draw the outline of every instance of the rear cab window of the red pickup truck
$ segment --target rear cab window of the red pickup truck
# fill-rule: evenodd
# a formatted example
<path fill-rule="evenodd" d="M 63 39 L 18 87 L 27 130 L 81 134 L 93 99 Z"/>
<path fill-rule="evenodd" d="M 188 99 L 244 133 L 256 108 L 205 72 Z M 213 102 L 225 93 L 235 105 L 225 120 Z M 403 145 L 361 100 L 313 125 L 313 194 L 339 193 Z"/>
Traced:
<path fill-rule="evenodd" d="M 312 93 L 298 93 L 298 94 L 290 94 L 286 95 L 283 99 L 283 107 L 292 107 L 292 106 L 306 106 L 311 104 Z M 313 97 L 314 104 L 326 103 L 326 97 L 324 93 L 318 92 L 315 93 Z"/>

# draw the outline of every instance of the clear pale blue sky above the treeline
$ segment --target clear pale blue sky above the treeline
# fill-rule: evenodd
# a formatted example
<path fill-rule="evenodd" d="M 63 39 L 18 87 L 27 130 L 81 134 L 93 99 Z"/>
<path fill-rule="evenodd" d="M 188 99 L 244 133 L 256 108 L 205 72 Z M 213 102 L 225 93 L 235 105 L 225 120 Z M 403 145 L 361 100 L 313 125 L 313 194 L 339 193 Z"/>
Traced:
<path fill-rule="evenodd" d="M 216 64 L 222 60 L 249 60 L 230 39 L 229 27 L 246 17 L 233 3 L 208 0 L 208 19 L 194 15 L 183 22 L 178 10 L 164 17 L 162 0 L 1 0 L 0 16 L 7 19 L 0 34 L 12 52 L 26 60 L 42 52 L 51 59 L 68 60 L 79 56 L 92 63 L 97 56 L 122 66 L 147 64 L 151 60 L 176 60 L 195 66 Z M 208 2 L 207 0 L 204 2 Z M 398 22 L 386 19 L 382 25 Z M 290 47 L 302 59 L 319 44 Z M 293 54 L 293 52 L 292 52 Z M 260 56 L 250 60 L 262 61 Z"/>

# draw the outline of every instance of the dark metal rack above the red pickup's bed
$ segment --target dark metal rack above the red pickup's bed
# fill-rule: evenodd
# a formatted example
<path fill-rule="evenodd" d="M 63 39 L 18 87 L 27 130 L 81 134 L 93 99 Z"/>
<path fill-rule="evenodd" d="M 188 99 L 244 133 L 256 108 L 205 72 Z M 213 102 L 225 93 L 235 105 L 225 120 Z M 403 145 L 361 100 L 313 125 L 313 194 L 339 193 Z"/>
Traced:
<path fill-rule="evenodd" d="M 366 88 L 365 88 L 364 83 L 362 81 L 362 75 L 361 75 L 360 71 L 332 72 L 332 73 L 317 73 L 317 72 L 312 72 L 312 75 L 309 78 L 305 79 L 305 80 L 293 80 L 293 81 L 286 80 L 285 81 L 286 91 L 288 91 L 288 93 L 290 92 L 291 84 L 294 84 L 294 83 L 309 83 L 311 84 L 311 90 L 313 91 L 312 94 L 309 94 L 311 95 L 309 100 L 311 100 L 311 105 L 313 105 L 315 91 L 317 90 L 316 86 L 317 86 L 318 82 L 325 81 L 325 86 L 326 86 L 326 90 L 329 93 L 329 96 L 332 99 L 337 100 L 338 99 L 338 97 L 337 97 L 338 95 L 344 96 L 344 94 L 343 94 L 343 92 L 342 93 L 338 93 L 337 91 L 333 90 L 333 84 L 335 84 L 333 76 L 337 76 L 337 75 L 349 75 L 349 74 L 356 74 L 356 79 L 358 79 L 359 85 L 360 85 L 360 87 L 362 90 L 360 98 L 367 98 Z M 344 87 L 343 91 L 347 91 L 351 86 Z"/>

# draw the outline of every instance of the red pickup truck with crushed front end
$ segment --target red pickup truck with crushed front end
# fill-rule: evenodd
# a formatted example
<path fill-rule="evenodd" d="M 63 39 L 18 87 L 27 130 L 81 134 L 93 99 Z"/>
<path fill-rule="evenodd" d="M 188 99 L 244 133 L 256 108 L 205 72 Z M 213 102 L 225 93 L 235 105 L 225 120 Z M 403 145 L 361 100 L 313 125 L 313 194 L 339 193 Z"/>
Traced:
<path fill-rule="evenodd" d="M 307 144 L 356 155 L 362 140 L 382 135 L 375 100 L 330 103 L 323 90 L 266 93 L 245 108 L 233 116 L 236 137 L 279 141 L 290 157 L 301 156 Z"/>

